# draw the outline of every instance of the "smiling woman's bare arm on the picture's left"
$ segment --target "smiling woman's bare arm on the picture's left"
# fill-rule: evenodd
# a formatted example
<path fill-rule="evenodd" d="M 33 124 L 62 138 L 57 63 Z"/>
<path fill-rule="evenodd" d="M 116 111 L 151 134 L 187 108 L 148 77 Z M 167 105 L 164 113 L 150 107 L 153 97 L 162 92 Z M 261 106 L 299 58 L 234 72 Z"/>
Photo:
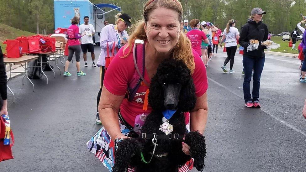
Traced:
<path fill-rule="evenodd" d="M 102 125 L 113 140 L 119 137 L 127 138 L 121 133 L 118 120 L 118 112 L 123 98 L 124 95 L 114 95 L 103 86 L 98 107 L 99 116 Z"/>

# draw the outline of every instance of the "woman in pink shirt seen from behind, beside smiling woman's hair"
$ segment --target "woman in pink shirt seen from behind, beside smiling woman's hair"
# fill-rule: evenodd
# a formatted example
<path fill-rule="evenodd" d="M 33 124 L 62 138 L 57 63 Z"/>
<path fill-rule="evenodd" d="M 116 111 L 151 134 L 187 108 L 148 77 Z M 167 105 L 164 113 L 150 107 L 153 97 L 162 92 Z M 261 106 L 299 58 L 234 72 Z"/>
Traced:
<path fill-rule="evenodd" d="M 198 55 L 201 57 L 202 52 L 201 52 L 201 43 L 202 40 L 204 43 L 208 43 L 208 38 L 206 35 L 199 29 L 200 28 L 200 20 L 199 19 L 192 19 L 190 21 L 190 27 L 191 31 L 187 32 L 186 36 L 190 39 L 191 41 L 191 47 L 193 50 L 196 50 Z"/>

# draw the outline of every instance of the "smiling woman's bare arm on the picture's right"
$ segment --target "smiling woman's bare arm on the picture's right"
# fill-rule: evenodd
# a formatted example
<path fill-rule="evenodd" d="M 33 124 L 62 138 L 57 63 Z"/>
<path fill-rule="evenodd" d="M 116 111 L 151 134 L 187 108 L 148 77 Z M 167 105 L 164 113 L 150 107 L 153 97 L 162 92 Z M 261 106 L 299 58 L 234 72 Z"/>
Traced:
<path fill-rule="evenodd" d="M 190 112 L 190 130 L 199 131 L 203 134 L 206 126 L 208 114 L 207 91 L 200 97 L 197 97 L 197 102 Z"/>

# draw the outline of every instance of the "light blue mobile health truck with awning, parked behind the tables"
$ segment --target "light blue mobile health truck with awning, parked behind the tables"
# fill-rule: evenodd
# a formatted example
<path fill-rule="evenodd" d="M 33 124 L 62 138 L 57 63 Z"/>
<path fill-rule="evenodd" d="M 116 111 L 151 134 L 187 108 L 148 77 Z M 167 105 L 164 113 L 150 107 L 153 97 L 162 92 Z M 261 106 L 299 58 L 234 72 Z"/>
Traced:
<path fill-rule="evenodd" d="M 106 12 L 105 8 L 111 10 Z M 80 24 L 83 24 L 84 16 L 88 16 L 89 23 L 96 30 L 93 37 L 94 43 L 99 45 L 100 37 L 98 34 L 104 27 L 105 14 L 113 10 L 121 11 L 121 7 L 106 3 L 94 4 L 89 0 L 54 0 L 54 29 L 68 28 L 74 16 L 77 16 L 80 19 Z"/>

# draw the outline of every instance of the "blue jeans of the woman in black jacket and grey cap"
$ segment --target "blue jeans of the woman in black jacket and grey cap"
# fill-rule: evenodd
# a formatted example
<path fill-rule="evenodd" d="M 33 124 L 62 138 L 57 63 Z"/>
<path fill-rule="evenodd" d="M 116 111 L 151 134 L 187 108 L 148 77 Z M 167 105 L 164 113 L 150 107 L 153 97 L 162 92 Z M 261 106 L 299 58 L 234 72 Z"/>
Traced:
<path fill-rule="evenodd" d="M 261 58 L 249 58 L 243 57 L 242 60 L 244 68 L 244 81 L 243 81 L 243 95 L 245 102 L 258 102 L 259 98 L 259 87 L 260 87 L 260 76 L 265 64 L 265 57 Z M 251 98 L 250 93 L 250 82 L 252 77 L 252 70 L 254 70 L 253 75 L 253 91 Z"/>

